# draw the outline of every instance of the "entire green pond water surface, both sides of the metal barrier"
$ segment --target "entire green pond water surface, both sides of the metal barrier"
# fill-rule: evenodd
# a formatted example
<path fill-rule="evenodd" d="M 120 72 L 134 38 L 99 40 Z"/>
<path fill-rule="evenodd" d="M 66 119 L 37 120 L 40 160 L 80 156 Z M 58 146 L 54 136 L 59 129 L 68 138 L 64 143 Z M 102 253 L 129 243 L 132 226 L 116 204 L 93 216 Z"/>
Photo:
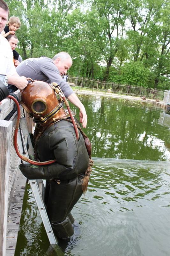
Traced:
<path fill-rule="evenodd" d="M 169 256 L 170 116 L 164 124 L 163 110 L 153 105 L 79 98 L 94 166 L 72 210 L 75 234 L 68 244 L 49 245 L 27 184 L 15 256 Z"/>

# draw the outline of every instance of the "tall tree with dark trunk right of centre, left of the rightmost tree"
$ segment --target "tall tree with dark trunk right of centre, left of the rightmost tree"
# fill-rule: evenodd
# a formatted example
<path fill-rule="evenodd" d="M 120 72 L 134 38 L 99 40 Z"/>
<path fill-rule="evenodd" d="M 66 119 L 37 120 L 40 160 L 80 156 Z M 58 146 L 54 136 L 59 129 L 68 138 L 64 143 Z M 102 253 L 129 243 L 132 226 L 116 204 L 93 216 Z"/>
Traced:
<path fill-rule="evenodd" d="M 109 76 L 109 68 L 120 45 L 122 45 L 127 1 L 94 0 L 92 10 L 93 26 L 91 30 L 100 47 L 100 52 L 107 63 L 103 78 L 106 81 Z M 94 20 L 95 16 L 96 18 Z"/>

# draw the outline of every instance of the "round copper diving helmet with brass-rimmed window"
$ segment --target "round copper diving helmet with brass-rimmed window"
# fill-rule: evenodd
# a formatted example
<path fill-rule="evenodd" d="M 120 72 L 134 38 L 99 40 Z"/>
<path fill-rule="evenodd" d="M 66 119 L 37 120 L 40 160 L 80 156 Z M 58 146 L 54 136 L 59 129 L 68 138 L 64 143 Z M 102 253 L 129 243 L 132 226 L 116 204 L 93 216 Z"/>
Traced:
<path fill-rule="evenodd" d="M 33 81 L 21 91 L 22 107 L 35 123 L 46 123 L 53 117 L 69 117 L 68 111 L 63 109 L 63 99 L 57 99 L 53 84 Z"/>

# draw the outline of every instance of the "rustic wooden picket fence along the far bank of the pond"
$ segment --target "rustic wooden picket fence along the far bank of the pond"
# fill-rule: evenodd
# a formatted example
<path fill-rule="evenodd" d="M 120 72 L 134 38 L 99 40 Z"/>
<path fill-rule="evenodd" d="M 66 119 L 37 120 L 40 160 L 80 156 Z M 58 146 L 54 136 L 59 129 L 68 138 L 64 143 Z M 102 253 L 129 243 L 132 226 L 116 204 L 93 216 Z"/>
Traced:
<path fill-rule="evenodd" d="M 81 89 L 90 89 L 95 91 L 104 91 L 118 93 L 137 97 L 146 97 L 148 99 L 163 100 L 164 91 L 153 88 L 144 88 L 142 86 L 130 86 L 128 84 L 116 84 L 114 82 L 100 81 L 99 79 L 69 76 L 67 82 L 81 87 Z"/>

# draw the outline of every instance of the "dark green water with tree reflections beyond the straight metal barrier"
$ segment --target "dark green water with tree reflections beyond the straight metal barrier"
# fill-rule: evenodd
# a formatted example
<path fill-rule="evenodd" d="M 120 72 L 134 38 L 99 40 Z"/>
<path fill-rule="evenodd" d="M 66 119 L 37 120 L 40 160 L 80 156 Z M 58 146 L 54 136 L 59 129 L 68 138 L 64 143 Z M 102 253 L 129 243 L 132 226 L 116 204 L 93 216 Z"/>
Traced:
<path fill-rule="evenodd" d="M 162 109 L 105 97 L 81 96 L 81 100 L 87 110 L 85 132 L 92 141 L 92 156 L 170 160 L 170 130 L 159 122 Z"/>

